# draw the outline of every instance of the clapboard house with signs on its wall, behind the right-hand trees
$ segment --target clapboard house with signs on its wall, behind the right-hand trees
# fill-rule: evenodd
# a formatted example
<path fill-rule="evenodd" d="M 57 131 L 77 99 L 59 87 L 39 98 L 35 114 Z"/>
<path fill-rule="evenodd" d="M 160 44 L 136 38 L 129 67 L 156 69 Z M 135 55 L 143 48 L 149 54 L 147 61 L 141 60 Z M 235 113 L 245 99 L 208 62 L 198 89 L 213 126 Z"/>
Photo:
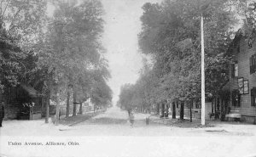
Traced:
<path fill-rule="evenodd" d="M 238 31 L 230 46 L 233 62 L 229 64 L 229 81 L 214 101 L 220 115 L 236 113 L 241 121 L 256 121 L 256 42 Z M 224 118 L 224 117 L 223 117 Z"/>

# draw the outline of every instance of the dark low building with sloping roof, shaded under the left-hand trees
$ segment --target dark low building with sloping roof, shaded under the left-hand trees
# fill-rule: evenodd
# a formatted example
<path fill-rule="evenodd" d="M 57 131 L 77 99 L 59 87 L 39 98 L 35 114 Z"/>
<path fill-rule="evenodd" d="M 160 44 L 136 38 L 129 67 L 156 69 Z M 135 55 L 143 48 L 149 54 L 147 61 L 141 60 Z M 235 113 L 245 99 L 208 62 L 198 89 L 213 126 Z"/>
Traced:
<path fill-rule="evenodd" d="M 0 93 L 4 104 L 4 119 L 38 119 L 42 115 L 43 95 L 33 87 L 20 83 L 17 87 L 7 87 Z"/>

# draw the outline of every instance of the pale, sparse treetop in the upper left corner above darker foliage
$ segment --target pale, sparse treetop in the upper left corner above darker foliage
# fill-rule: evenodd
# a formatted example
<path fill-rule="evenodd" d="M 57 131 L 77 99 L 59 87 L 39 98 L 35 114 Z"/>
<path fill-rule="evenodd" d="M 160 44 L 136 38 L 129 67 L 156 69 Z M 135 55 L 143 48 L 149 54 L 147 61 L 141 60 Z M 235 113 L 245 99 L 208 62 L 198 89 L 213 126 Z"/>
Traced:
<path fill-rule="evenodd" d="M 31 51 L 38 43 L 46 20 L 47 2 L 44 0 L 1 0 L 0 20 L 6 33 L 24 51 Z M 28 49 L 27 49 L 28 48 Z"/>

